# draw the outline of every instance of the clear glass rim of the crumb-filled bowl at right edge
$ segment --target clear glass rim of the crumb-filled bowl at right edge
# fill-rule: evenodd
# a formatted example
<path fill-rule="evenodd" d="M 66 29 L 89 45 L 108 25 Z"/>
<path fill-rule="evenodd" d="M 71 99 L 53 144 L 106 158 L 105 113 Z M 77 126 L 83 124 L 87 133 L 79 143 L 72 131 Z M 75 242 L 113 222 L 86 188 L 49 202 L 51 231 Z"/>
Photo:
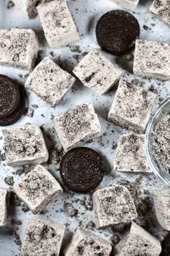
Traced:
<path fill-rule="evenodd" d="M 153 147 L 152 147 L 152 136 L 154 135 L 156 124 L 158 121 L 167 114 L 170 114 L 170 98 L 161 103 L 161 106 L 158 107 L 156 113 L 151 116 L 148 121 L 148 126 L 146 127 L 146 139 L 145 139 L 145 150 L 146 150 L 146 158 L 151 167 L 153 173 L 161 179 L 161 181 L 170 186 L 170 174 L 168 174 L 164 168 L 162 168 L 156 158 L 153 155 Z"/>

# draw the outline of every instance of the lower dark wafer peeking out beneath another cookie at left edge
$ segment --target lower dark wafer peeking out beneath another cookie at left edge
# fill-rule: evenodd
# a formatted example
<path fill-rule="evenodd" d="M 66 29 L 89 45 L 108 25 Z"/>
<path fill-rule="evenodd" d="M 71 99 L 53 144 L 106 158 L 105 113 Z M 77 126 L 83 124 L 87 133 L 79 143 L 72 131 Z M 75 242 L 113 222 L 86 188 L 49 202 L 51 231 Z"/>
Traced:
<path fill-rule="evenodd" d="M 17 109 L 10 116 L 0 119 L 0 126 L 8 126 L 16 123 L 16 121 L 18 121 L 21 118 L 21 116 L 24 114 L 24 110 L 25 110 L 24 93 L 20 91 L 20 101 Z"/>

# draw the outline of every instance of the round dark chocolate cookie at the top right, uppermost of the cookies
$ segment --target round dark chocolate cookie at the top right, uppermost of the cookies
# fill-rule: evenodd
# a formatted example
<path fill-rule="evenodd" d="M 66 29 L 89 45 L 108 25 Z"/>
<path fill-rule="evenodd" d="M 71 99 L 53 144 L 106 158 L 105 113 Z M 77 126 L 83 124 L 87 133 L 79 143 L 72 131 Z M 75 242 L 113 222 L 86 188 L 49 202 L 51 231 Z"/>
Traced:
<path fill-rule="evenodd" d="M 115 10 L 104 14 L 97 22 L 99 46 L 112 54 L 125 54 L 140 35 L 138 20 L 129 12 Z"/>

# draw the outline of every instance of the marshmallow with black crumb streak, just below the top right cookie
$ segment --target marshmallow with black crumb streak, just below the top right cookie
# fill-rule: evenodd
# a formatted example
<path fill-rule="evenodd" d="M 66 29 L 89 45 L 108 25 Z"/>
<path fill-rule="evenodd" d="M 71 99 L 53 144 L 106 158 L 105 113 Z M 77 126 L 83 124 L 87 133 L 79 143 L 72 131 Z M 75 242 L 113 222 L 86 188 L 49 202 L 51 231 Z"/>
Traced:
<path fill-rule="evenodd" d="M 107 59 L 101 51 L 89 52 L 73 69 L 73 73 L 88 88 L 102 95 L 120 80 L 125 72 Z"/>

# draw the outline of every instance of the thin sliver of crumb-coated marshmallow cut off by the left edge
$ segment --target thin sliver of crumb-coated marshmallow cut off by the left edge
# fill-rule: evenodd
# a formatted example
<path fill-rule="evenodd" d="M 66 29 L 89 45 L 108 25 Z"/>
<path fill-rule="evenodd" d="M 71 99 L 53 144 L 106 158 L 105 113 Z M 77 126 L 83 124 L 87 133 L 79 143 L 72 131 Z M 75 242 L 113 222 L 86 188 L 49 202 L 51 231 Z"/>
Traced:
<path fill-rule="evenodd" d="M 7 189 L 0 189 L 0 226 L 5 226 L 7 223 L 8 194 Z"/>

